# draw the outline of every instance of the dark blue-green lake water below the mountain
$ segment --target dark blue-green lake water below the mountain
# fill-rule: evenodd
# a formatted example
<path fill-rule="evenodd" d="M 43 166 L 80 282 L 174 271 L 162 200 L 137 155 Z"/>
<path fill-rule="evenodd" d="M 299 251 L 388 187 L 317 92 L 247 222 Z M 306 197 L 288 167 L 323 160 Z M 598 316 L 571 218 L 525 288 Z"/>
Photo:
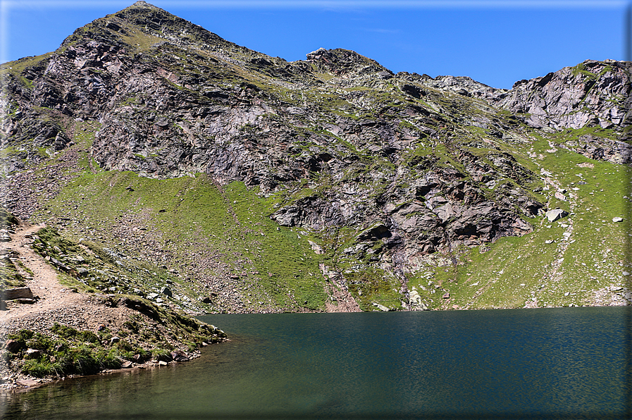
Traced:
<path fill-rule="evenodd" d="M 0 398 L 3 419 L 623 419 L 630 307 L 212 315 L 192 362 Z"/>

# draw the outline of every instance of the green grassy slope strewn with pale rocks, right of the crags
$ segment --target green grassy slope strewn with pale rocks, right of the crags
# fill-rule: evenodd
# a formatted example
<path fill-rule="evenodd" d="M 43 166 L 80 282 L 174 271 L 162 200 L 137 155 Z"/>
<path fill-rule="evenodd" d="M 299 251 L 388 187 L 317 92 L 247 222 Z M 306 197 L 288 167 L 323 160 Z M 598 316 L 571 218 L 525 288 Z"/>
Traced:
<path fill-rule="evenodd" d="M 552 145 L 574 140 L 577 131 L 552 136 Z M 629 276 L 624 275 L 632 271 L 626 255 L 629 199 L 624 196 L 631 195 L 631 168 L 552 148 L 544 139 L 514 152 L 536 173 L 540 168 L 552 173 L 550 178 L 568 191 L 566 201 L 555 198 L 554 189 L 543 191 L 540 199 L 547 208 L 562 208 L 570 216 L 554 223 L 543 216 L 526 218 L 533 225 L 532 233 L 466 250 L 462 266 L 428 266 L 409 281 L 409 288 L 416 288 L 428 306 L 581 306 L 590 302 L 593 290 L 629 283 Z M 537 157 L 525 159 L 526 154 Z M 614 223 L 614 217 L 624 221 Z M 446 291 L 450 300 L 442 298 Z"/>

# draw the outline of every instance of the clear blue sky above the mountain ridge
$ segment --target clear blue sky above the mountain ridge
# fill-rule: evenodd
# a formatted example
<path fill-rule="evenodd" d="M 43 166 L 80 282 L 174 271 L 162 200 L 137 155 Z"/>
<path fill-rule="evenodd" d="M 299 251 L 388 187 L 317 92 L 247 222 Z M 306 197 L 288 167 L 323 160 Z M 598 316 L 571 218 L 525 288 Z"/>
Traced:
<path fill-rule="evenodd" d="M 134 0 L 0 0 L 0 59 L 54 51 Z M 154 0 L 228 41 L 287 61 L 345 48 L 397 73 L 510 88 L 587 58 L 626 58 L 625 0 Z"/>

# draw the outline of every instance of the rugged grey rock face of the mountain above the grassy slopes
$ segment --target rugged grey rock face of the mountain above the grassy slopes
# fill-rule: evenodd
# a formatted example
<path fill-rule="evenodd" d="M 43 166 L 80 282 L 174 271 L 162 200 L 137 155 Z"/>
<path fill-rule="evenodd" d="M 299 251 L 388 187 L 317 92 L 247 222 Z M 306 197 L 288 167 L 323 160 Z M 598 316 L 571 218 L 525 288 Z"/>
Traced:
<path fill-rule="evenodd" d="M 566 147 L 630 161 L 631 66 L 585 61 L 507 91 L 393 74 L 345 49 L 287 62 L 139 1 L 52 54 L 3 67 L 1 142 L 23 149 L 5 171 L 21 173 L 44 159 L 37 149 L 54 154 L 72 128 L 94 123 L 89 152 L 102 168 L 205 173 L 283 194 L 271 213 L 280 226 L 352 228 L 353 243 L 335 252 L 415 273 L 433 254 L 456 262 L 461 246 L 531 231 L 545 211 L 543 179 L 506 145 L 531 142 L 533 130 L 608 129 Z"/>

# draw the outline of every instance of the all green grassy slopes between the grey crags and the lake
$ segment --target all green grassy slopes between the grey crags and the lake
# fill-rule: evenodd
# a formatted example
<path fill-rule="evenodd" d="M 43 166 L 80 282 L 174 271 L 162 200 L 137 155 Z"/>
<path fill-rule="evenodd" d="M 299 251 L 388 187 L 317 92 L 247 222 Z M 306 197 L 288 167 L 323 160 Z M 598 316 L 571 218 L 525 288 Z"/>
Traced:
<path fill-rule="evenodd" d="M 173 278 L 192 297 L 208 292 L 199 283 L 218 278 L 235 283 L 245 308 L 323 309 L 325 280 L 318 263 L 324 262 L 340 268 L 363 309 L 373 309 L 373 302 L 401 307 L 397 278 L 341 253 L 359 232 L 337 229 L 316 234 L 278 227 L 268 218 L 278 199 L 262 199 L 241 183 L 218 187 L 203 174 L 154 180 L 101 171 L 81 152 L 89 147 L 95 127 L 84 124 L 75 129 L 79 176 L 46 203 L 36 219 L 68 217 L 64 231 L 75 240 L 89 235 L 102 246 L 115 245 L 115 250 L 137 259 L 162 258 L 168 268 L 182 268 Z M 459 249 L 463 265 L 427 266 L 409 277 L 409 290 L 418 290 L 433 308 L 490 308 L 522 307 L 534 298 L 538 306 L 581 305 L 588 303 L 592 290 L 624 285 L 627 222 L 613 223 L 612 218 L 627 214 L 628 200 L 623 197 L 628 194 L 630 170 L 560 147 L 551 152 L 551 144 L 575 135 L 507 147 L 535 173 L 552 173 L 552 181 L 569 191 L 566 197 L 574 194 L 568 201 L 556 199 L 552 185 L 539 194 L 548 208 L 559 206 L 571 216 L 554 223 L 543 216 L 527 218 L 534 228 L 528 235 L 505 237 L 483 249 Z M 529 154 L 537 157 L 529 159 Z M 133 227 L 145 230 L 128 235 Z M 565 238 L 565 232 L 571 235 Z M 307 239 L 325 245 L 328 254 L 316 255 Z M 158 248 L 164 252 L 155 251 Z M 200 269 L 195 264 L 200 254 L 191 253 L 192 248 L 204 249 L 214 264 Z M 442 298 L 445 292 L 450 292 L 450 300 Z M 204 309 L 221 310 L 221 304 Z"/>

